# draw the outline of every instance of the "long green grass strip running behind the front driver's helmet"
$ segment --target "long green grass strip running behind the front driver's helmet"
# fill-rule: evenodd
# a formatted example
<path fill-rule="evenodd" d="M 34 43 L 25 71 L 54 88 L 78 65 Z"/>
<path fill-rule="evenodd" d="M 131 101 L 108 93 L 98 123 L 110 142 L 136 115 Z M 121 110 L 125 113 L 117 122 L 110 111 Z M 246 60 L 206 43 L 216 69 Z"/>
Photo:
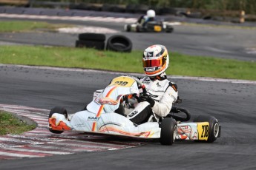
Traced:
<path fill-rule="evenodd" d="M 256 64 L 169 52 L 168 75 L 256 80 Z M 142 73 L 142 51 L 119 53 L 71 47 L 1 46 L 1 64 L 103 69 Z"/>

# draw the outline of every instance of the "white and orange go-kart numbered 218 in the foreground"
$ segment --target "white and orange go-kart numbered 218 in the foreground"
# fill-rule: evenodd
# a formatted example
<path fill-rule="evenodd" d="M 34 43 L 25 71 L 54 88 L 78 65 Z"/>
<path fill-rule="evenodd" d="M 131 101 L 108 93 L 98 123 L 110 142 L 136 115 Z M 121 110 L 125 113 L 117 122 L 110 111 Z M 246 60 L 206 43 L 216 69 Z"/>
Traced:
<path fill-rule="evenodd" d="M 117 111 L 122 110 L 120 106 L 140 101 L 140 92 L 147 93 L 147 90 L 139 79 L 130 76 L 116 77 L 105 89 L 93 93 L 93 101 L 86 106 L 86 110 L 68 115 L 65 108 L 56 106 L 51 109 L 48 128 L 55 134 L 77 131 L 159 138 L 163 145 L 171 145 L 174 140 L 211 143 L 220 137 L 220 125 L 216 118 L 200 115 L 194 122 L 187 122 L 191 118 L 188 110 L 175 106 L 165 118 L 152 114 L 145 123 L 131 122 L 123 112 Z M 177 101 L 181 102 L 180 99 Z"/>

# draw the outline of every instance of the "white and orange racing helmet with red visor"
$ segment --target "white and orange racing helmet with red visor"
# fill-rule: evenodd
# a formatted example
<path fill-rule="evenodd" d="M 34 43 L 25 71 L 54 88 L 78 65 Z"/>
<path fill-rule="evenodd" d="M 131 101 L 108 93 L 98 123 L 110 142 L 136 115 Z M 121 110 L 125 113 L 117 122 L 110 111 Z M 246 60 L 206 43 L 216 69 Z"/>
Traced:
<path fill-rule="evenodd" d="M 165 72 L 169 65 L 169 55 L 165 46 L 156 44 L 145 49 L 142 58 L 145 75 L 154 77 Z"/>

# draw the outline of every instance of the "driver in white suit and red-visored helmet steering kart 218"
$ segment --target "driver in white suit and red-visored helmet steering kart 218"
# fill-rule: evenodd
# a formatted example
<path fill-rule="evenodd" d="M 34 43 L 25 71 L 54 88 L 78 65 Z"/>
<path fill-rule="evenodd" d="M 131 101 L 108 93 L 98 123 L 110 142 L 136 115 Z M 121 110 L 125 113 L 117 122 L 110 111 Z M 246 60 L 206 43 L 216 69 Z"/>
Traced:
<path fill-rule="evenodd" d="M 169 64 L 165 46 L 157 44 L 145 49 L 142 64 L 146 76 L 139 79 L 145 84 L 148 93 L 140 94 L 141 102 L 134 109 L 125 108 L 127 118 L 136 124 L 148 121 L 153 112 L 165 117 L 178 98 L 177 85 L 168 81 L 165 74 Z"/>

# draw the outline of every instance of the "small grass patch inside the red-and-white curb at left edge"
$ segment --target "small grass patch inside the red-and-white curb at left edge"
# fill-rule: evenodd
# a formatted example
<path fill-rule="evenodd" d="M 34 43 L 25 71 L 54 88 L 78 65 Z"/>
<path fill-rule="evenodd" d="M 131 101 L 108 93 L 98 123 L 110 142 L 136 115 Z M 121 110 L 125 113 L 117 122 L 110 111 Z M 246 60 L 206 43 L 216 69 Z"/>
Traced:
<path fill-rule="evenodd" d="M 27 125 L 21 120 L 13 117 L 13 115 L 11 115 L 8 112 L 0 111 L 0 135 L 7 135 L 7 134 L 18 135 L 35 128 L 36 126 Z"/>

